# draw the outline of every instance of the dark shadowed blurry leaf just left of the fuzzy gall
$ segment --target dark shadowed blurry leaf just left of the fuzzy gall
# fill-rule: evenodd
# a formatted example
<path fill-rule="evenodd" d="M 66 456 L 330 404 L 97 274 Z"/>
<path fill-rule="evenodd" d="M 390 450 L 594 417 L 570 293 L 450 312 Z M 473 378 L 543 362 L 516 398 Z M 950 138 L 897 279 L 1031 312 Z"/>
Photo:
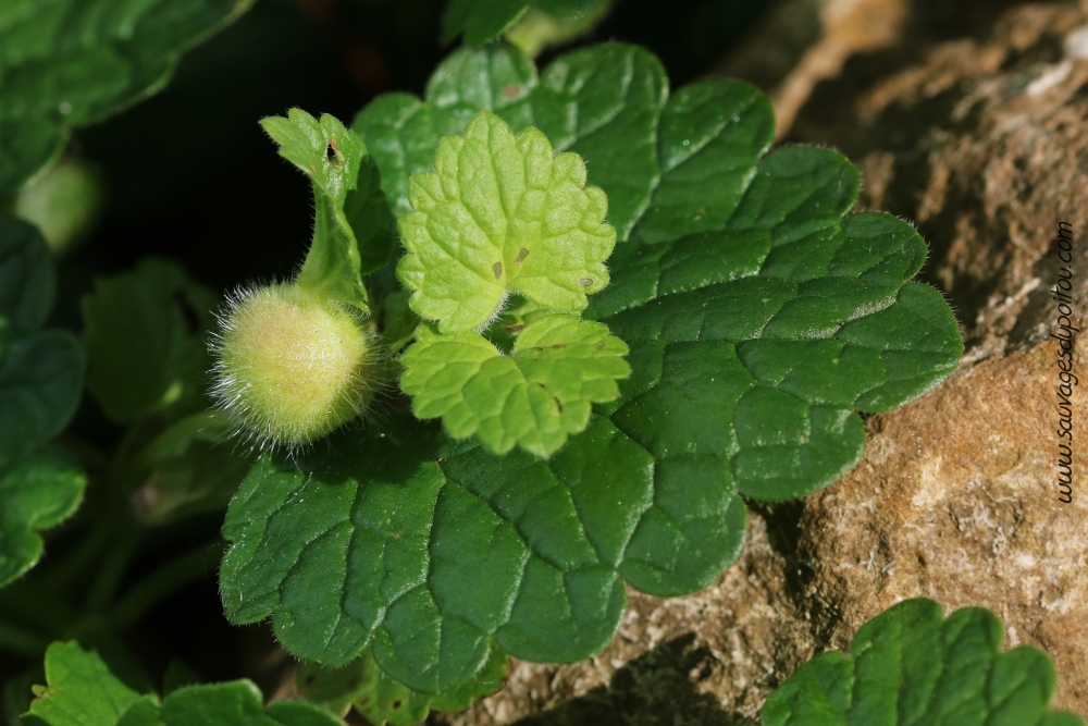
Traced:
<path fill-rule="evenodd" d="M 168 260 L 146 259 L 96 281 L 83 299 L 87 389 L 110 419 L 129 423 L 207 407 L 208 335 L 218 303 Z"/>

